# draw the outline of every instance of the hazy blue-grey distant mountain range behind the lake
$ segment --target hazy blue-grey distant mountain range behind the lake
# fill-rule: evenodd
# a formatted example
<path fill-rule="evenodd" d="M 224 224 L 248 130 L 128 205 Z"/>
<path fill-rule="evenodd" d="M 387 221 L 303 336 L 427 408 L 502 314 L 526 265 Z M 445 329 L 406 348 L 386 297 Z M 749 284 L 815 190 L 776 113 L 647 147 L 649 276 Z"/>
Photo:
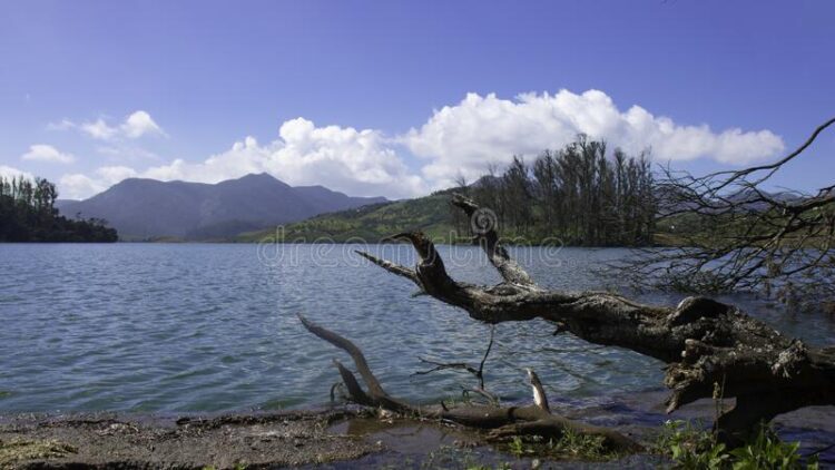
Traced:
<path fill-rule="evenodd" d="M 293 187 L 259 174 L 214 185 L 129 178 L 89 199 L 61 202 L 59 209 L 68 217 L 104 218 L 122 239 L 223 239 L 385 200 L 322 186 Z"/>

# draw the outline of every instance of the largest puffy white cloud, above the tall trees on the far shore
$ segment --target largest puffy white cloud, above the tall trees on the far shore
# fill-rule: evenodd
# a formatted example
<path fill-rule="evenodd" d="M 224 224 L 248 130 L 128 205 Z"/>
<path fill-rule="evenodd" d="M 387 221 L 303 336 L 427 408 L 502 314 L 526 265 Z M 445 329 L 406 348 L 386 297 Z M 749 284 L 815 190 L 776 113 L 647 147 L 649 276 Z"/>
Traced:
<path fill-rule="evenodd" d="M 434 111 L 401 141 L 429 160 L 423 167 L 428 178 L 449 182 L 459 173 L 477 177 L 514 154 L 560 148 L 578 134 L 630 153 L 651 148 L 656 160 L 713 158 L 745 165 L 784 149 L 783 139 L 769 130 L 715 133 L 707 125 L 679 125 L 639 106 L 621 111 L 599 90 L 523 94 L 512 100 L 468 94 L 458 105 Z"/>

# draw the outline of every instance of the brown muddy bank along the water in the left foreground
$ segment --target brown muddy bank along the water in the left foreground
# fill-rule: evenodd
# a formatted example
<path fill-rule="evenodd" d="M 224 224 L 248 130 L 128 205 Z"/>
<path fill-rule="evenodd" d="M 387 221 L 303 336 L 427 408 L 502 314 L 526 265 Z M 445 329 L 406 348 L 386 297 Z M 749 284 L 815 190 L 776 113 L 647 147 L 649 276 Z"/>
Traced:
<path fill-rule="evenodd" d="M 381 444 L 328 431 L 354 411 L 213 419 L 17 417 L 0 423 L 0 468 L 298 467 L 357 459 Z"/>

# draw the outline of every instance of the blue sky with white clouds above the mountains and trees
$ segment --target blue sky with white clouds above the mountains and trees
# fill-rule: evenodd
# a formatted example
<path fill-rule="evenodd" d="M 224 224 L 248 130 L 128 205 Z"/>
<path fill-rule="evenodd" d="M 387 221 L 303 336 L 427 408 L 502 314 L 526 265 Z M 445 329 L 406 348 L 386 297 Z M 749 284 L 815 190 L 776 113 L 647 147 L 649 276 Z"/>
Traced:
<path fill-rule="evenodd" d="M 697 173 L 835 115 L 828 1 L 7 1 L 0 173 L 407 197 L 578 131 Z M 777 184 L 835 178 L 835 131 Z"/>

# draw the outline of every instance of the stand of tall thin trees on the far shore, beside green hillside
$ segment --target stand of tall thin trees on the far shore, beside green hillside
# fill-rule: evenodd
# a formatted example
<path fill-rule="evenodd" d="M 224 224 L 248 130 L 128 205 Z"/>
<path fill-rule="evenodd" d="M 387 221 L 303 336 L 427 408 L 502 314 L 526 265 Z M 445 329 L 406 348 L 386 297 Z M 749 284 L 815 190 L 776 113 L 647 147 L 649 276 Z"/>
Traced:
<path fill-rule="evenodd" d="M 607 144 L 579 136 L 559 150 L 544 150 L 528 165 L 514 156 L 499 174 L 490 167 L 474 184 L 458 178 L 497 223 L 527 241 L 558 237 L 569 245 L 646 246 L 652 244 L 656 200 L 647 153 L 607 151 Z M 465 233 L 469 222 L 452 212 Z M 463 232 L 462 232 L 463 231 Z"/>

